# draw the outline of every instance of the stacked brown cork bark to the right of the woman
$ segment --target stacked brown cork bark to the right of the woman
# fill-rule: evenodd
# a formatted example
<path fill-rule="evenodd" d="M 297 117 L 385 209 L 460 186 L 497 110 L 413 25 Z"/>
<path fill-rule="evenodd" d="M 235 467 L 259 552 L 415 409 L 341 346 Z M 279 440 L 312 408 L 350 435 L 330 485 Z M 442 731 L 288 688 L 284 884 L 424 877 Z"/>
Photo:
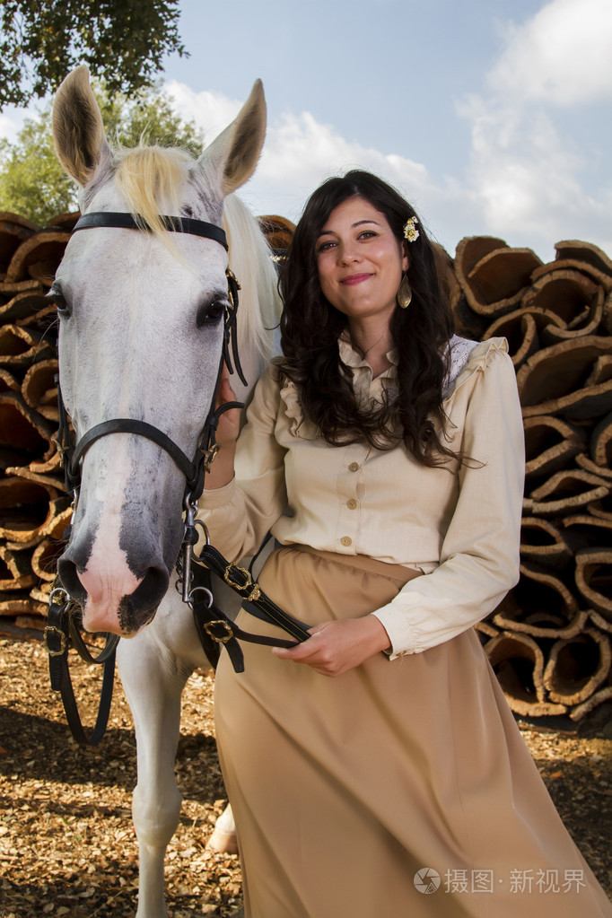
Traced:
<path fill-rule="evenodd" d="M 471 237 L 448 283 L 460 333 L 508 340 L 527 448 L 521 577 L 479 626 L 510 706 L 581 720 L 612 700 L 612 261 Z"/>

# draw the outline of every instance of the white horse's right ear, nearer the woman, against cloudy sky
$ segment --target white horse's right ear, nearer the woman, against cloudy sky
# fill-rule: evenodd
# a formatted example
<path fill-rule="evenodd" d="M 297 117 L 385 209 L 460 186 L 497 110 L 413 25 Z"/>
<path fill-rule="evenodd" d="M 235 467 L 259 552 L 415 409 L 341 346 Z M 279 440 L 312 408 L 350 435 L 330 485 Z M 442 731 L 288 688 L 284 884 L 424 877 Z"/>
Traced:
<path fill-rule="evenodd" d="M 221 193 L 230 195 L 255 171 L 265 138 L 266 104 L 261 80 L 256 80 L 237 118 L 206 147 L 200 162 L 219 174 Z"/>

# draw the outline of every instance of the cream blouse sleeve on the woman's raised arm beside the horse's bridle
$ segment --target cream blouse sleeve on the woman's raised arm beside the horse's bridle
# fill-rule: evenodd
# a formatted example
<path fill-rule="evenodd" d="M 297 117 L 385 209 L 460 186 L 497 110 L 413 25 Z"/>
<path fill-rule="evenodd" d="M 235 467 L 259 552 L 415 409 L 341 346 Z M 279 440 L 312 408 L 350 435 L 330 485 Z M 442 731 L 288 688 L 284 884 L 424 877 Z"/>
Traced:
<path fill-rule="evenodd" d="M 236 448 L 236 474 L 225 487 L 205 490 L 198 518 L 230 561 L 254 554 L 287 504 L 285 449 L 275 431 L 280 406 L 278 368 L 261 376 Z"/>

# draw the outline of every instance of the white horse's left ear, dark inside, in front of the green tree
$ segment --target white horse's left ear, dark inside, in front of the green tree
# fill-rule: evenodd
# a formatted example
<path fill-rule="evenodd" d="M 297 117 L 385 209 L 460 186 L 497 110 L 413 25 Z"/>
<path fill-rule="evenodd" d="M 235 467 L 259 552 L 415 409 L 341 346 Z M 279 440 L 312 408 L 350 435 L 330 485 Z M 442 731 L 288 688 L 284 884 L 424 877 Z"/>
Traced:
<path fill-rule="evenodd" d="M 53 143 L 61 165 L 87 185 L 103 160 L 110 159 L 104 125 L 84 64 L 69 73 L 53 105 Z"/>

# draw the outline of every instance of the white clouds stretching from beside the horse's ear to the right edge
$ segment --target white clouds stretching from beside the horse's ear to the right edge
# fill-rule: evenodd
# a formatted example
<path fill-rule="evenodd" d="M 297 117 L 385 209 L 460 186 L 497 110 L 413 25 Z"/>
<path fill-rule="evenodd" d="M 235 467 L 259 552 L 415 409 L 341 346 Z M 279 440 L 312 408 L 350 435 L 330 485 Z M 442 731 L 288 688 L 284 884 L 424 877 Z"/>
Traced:
<path fill-rule="evenodd" d="M 483 92 L 457 106 L 472 135 L 465 172 L 452 173 L 451 157 L 451 174 L 434 178 L 422 163 L 343 137 L 308 111 L 285 112 L 271 119 L 257 172 L 240 194 L 255 213 L 296 220 L 321 181 L 364 168 L 396 185 L 450 252 L 462 236 L 483 233 L 545 260 L 555 241 L 568 238 L 612 252 L 612 183 L 602 173 L 597 187 L 591 174 L 607 151 L 581 144 L 567 117 L 569 106 L 582 112 L 612 94 L 609 47 L 610 0 L 553 0 L 506 27 L 505 50 L 484 74 Z M 208 142 L 244 101 L 176 82 L 166 88 Z"/>

